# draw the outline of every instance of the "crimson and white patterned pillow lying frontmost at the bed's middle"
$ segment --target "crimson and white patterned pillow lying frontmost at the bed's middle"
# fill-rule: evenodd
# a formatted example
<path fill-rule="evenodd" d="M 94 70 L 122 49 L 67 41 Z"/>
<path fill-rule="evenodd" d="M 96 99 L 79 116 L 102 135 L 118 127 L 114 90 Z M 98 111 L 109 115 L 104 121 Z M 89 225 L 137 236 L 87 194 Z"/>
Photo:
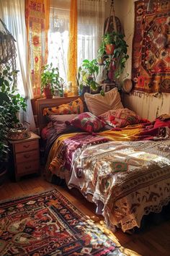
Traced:
<path fill-rule="evenodd" d="M 74 127 L 80 128 L 84 132 L 99 132 L 99 130 L 105 126 L 104 121 L 90 112 L 79 114 L 79 116 L 76 116 L 71 122 L 67 121 L 66 124 L 72 124 Z"/>

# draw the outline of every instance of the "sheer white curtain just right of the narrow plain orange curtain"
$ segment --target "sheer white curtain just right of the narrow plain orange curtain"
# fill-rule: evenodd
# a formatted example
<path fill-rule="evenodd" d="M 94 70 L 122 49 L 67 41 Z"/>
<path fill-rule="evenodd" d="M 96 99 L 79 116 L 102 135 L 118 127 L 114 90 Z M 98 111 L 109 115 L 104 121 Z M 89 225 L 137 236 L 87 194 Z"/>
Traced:
<path fill-rule="evenodd" d="M 104 30 L 104 1 L 78 2 L 78 67 L 84 59 L 96 59 Z"/>

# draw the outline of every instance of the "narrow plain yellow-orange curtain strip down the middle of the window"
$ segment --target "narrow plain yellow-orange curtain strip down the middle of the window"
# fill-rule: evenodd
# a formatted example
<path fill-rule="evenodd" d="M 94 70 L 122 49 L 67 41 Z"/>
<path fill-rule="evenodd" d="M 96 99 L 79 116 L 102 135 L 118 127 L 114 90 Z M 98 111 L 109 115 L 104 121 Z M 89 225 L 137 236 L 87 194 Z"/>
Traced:
<path fill-rule="evenodd" d="M 73 94 L 77 93 L 77 0 L 71 0 L 68 47 L 68 81 L 72 82 Z"/>

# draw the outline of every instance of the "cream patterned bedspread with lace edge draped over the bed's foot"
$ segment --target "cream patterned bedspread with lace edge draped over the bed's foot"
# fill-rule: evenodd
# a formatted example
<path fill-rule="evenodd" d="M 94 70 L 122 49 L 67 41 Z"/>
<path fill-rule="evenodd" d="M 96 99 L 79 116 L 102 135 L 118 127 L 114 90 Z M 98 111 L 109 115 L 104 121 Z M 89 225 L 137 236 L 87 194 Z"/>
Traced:
<path fill-rule="evenodd" d="M 76 150 L 68 182 L 103 202 L 107 226 L 140 227 L 143 215 L 170 201 L 170 140 L 106 142 Z"/>

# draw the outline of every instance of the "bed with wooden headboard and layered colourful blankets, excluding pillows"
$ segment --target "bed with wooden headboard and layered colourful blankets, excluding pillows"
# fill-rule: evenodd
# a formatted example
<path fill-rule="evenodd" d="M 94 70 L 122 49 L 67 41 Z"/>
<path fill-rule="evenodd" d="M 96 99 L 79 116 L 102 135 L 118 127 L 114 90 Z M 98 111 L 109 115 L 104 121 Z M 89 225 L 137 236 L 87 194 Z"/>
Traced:
<path fill-rule="evenodd" d="M 45 107 L 74 100 L 37 100 L 40 129 L 47 122 Z M 57 134 L 50 128 L 45 179 L 58 176 L 70 189 L 79 189 L 112 231 L 140 227 L 143 216 L 160 213 L 170 201 L 170 125 L 154 124 L 91 133 L 68 129 Z"/>

